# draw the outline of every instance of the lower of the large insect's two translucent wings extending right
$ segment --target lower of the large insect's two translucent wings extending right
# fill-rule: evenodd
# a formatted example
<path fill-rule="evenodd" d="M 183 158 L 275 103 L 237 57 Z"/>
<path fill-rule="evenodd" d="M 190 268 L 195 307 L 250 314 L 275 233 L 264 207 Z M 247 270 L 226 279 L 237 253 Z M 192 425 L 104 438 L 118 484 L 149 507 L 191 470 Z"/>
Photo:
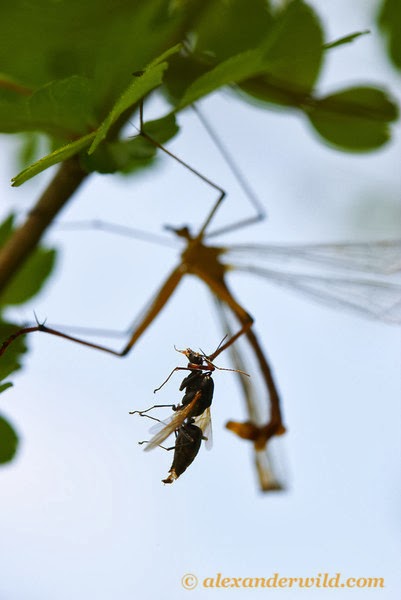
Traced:
<path fill-rule="evenodd" d="M 401 285 L 397 283 L 281 273 L 253 265 L 237 265 L 232 269 L 253 273 L 335 308 L 358 312 L 387 323 L 401 323 Z"/>

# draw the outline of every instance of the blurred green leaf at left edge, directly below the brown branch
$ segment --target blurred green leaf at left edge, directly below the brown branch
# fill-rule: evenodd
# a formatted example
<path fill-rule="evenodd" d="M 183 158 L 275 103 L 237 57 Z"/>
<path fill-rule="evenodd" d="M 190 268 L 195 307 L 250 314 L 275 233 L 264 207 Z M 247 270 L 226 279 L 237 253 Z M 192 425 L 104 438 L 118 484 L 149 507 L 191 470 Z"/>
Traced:
<path fill-rule="evenodd" d="M 11 218 L 12 224 L 13 220 Z M 8 235 L 4 235 L 3 227 Z M 6 219 L 0 231 L 0 238 L 3 238 L 4 243 L 12 232 L 12 229 L 10 230 L 10 217 Z M 0 293 L 0 306 L 21 304 L 37 294 L 53 269 L 55 256 L 54 250 L 37 247 Z"/>

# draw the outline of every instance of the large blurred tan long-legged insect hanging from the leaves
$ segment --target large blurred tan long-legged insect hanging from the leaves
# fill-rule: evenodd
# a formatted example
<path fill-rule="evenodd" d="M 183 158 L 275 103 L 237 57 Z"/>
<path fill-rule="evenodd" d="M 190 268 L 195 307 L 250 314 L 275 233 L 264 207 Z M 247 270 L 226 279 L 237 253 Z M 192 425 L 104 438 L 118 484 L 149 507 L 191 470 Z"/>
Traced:
<path fill-rule="evenodd" d="M 263 220 L 264 209 L 248 182 L 238 170 L 230 153 L 222 145 L 221 141 L 218 140 L 201 113 L 199 111 L 197 113 L 211 135 L 212 140 L 217 144 L 223 159 L 251 201 L 256 211 L 255 216 L 227 225 L 224 228 L 210 231 L 210 226 L 225 198 L 226 192 L 219 185 L 153 140 L 144 130 L 141 108 L 139 135 L 149 140 L 216 190 L 218 192 L 217 200 L 196 233 L 192 233 L 189 227 L 169 227 L 170 231 L 184 243 L 180 260 L 146 306 L 144 315 L 139 323 L 135 321 L 128 328 L 127 335 L 129 335 L 129 339 L 121 350 L 115 350 L 108 346 L 68 335 L 55 328 L 38 323 L 36 326 L 25 327 L 17 331 L 5 340 L 0 349 L 0 356 L 15 338 L 34 331 L 59 336 L 115 356 L 125 356 L 162 311 L 184 276 L 192 275 L 197 277 L 203 281 L 212 295 L 218 299 L 219 303 L 234 317 L 239 325 L 242 328 L 247 328 L 244 337 L 246 337 L 250 349 L 256 358 L 256 363 L 264 382 L 265 393 L 262 398 L 260 395 L 255 396 L 248 392 L 248 419 L 245 422 L 230 421 L 228 427 L 239 437 L 253 444 L 256 452 L 255 456 L 261 489 L 277 489 L 279 486 L 274 483 L 276 478 L 272 477 L 272 473 L 269 470 L 268 458 L 264 452 L 269 440 L 274 436 L 281 435 L 285 431 L 278 388 L 269 360 L 259 342 L 254 327 L 252 327 L 253 318 L 235 298 L 228 285 L 227 275 L 232 272 L 253 274 L 281 287 L 299 291 L 320 302 L 356 311 L 370 318 L 399 323 L 401 316 L 401 286 L 397 283 L 384 281 L 383 279 L 371 279 L 368 277 L 368 274 L 375 273 L 388 276 L 393 270 L 396 270 L 397 265 L 399 267 L 400 264 L 399 254 L 401 245 L 399 240 L 368 243 L 305 244 L 292 247 L 266 244 L 235 245 L 231 247 L 210 245 L 209 240 L 217 236 L 217 234 L 235 231 Z M 110 232 L 122 233 L 129 236 L 136 234 L 136 232 L 131 231 L 126 226 L 107 225 L 101 222 L 98 225 L 100 225 L 100 228 Z M 298 271 L 291 273 L 288 270 L 282 271 L 277 268 L 268 268 L 265 264 L 259 266 L 254 262 L 257 260 L 265 263 L 265 261 L 271 261 L 272 259 L 281 263 L 281 266 L 283 262 L 288 266 L 293 261 L 298 266 L 306 265 L 308 268 L 324 267 L 332 269 L 334 274 L 333 276 L 328 276 L 327 274 L 299 273 Z M 248 260 L 251 262 L 248 262 Z M 343 274 L 337 275 L 336 273 L 339 270 L 342 272 L 347 271 L 348 275 L 346 277 Z M 85 328 L 79 329 L 81 333 L 85 331 Z M 261 410 L 261 407 L 263 407 L 263 410 Z M 257 415 L 266 412 L 265 409 L 267 409 L 269 416 L 267 419 L 263 418 L 261 420 Z"/>

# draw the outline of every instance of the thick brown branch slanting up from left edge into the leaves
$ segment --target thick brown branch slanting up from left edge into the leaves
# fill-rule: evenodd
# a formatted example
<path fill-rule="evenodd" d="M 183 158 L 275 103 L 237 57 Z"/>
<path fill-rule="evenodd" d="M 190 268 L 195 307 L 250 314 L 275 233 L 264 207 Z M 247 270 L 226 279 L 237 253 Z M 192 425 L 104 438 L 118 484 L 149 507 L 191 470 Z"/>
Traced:
<path fill-rule="evenodd" d="M 38 244 L 47 227 L 78 189 L 87 173 L 74 156 L 62 163 L 25 223 L 17 229 L 0 250 L 0 291 Z"/>

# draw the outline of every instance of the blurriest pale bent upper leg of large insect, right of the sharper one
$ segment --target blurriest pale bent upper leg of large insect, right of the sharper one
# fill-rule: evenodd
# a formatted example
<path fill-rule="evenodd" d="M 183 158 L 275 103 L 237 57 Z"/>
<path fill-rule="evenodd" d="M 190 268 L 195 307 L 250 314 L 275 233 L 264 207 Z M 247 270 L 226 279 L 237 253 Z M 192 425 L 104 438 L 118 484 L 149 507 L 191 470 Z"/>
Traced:
<path fill-rule="evenodd" d="M 249 202 L 256 211 L 255 216 L 250 217 L 249 219 L 245 219 L 243 221 L 239 221 L 237 223 L 232 223 L 231 225 L 227 225 L 221 229 L 216 229 L 215 231 L 209 233 L 207 237 L 212 237 L 220 233 L 227 233 L 229 231 L 234 231 L 235 229 L 242 228 L 246 225 L 251 225 L 253 223 L 263 221 L 266 218 L 266 210 L 262 205 L 261 201 L 259 200 L 256 192 L 251 187 L 249 181 L 246 179 L 245 175 L 234 160 L 232 154 L 229 152 L 228 148 L 223 144 L 219 136 L 216 134 L 208 119 L 206 119 L 205 115 L 203 114 L 203 111 L 201 111 L 199 107 L 195 104 L 192 105 L 192 109 L 194 110 L 198 119 L 202 123 L 203 127 L 205 128 L 205 131 L 208 133 L 214 145 L 219 150 L 223 160 L 228 165 L 231 173 L 237 180 L 240 188 L 242 189 L 242 191 L 244 192 Z"/>

